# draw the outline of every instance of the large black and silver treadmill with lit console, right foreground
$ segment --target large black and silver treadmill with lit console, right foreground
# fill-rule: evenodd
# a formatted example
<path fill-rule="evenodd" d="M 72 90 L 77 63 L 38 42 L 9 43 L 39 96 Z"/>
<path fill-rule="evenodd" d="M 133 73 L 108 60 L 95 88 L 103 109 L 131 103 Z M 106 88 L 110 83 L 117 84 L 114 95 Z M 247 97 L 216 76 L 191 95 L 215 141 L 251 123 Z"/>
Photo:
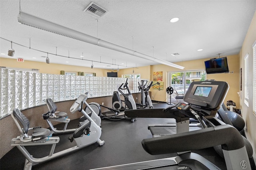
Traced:
<path fill-rule="evenodd" d="M 220 170 L 218 166 L 190 150 L 200 150 L 221 146 L 228 170 L 255 169 L 252 158 L 252 146 L 233 126 L 216 118 L 229 86 L 223 81 L 194 81 L 184 96 L 186 103 L 178 103 L 166 109 L 127 110 L 127 117 L 174 118 L 176 134 L 146 138 L 142 146 L 152 155 L 178 152 L 176 157 L 124 164 L 99 169 L 132 170 L 132 169 L 192 169 Z M 226 114 L 224 114 L 226 115 Z M 223 116 L 224 116 L 223 115 Z M 189 118 L 197 119 L 202 129 L 189 131 Z M 184 122 L 183 125 L 178 123 Z M 218 156 L 218 155 L 217 155 Z"/>

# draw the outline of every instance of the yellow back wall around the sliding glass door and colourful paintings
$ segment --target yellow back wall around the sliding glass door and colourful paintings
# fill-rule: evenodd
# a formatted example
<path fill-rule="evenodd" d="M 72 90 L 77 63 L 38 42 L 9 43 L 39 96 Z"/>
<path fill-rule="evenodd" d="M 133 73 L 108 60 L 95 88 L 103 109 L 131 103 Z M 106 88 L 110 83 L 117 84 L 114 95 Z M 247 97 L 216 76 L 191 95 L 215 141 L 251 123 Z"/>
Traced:
<path fill-rule="evenodd" d="M 208 58 L 210 59 L 210 58 Z M 185 67 L 184 70 L 196 70 L 196 69 L 205 69 L 204 61 L 208 59 L 198 59 L 198 60 L 191 60 L 191 61 L 182 61 L 182 62 L 176 62 L 175 64 L 181 65 Z M 226 81 L 230 89 L 228 91 L 228 94 L 226 96 L 226 99 L 224 102 L 228 100 L 232 100 L 236 102 L 237 108 L 239 109 L 240 100 L 237 92 L 239 92 L 239 57 L 238 55 L 230 55 L 227 56 L 228 59 L 228 66 L 230 71 L 234 71 L 234 73 L 221 73 L 221 74 L 208 74 L 206 79 L 215 79 L 217 81 Z M 164 90 L 158 91 L 158 90 L 150 90 L 152 100 L 155 101 L 164 101 L 166 102 L 167 94 L 166 94 L 166 85 L 167 85 L 167 72 L 168 71 L 184 71 L 181 69 L 176 69 L 174 67 L 169 67 L 167 65 L 150 65 L 150 69 L 146 67 L 147 69 L 144 70 L 144 72 L 148 75 L 150 75 L 150 80 L 153 80 L 153 72 L 156 71 L 163 71 L 163 82 L 164 82 Z M 129 74 L 129 69 L 122 69 L 122 74 Z M 138 72 L 139 73 L 139 72 Z M 141 75 L 142 79 L 148 79 L 147 76 Z"/>

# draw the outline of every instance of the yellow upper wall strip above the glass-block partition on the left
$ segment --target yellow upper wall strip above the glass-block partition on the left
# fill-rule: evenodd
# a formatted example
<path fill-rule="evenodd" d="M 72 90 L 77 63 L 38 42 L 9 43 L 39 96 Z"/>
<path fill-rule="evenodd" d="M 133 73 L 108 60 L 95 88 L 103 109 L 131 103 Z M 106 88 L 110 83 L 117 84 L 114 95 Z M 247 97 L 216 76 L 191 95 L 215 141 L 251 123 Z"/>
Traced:
<path fill-rule="evenodd" d="M 70 71 L 70 72 L 86 72 L 86 73 L 96 73 L 97 77 L 107 77 L 107 72 L 110 70 L 107 69 L 97 69 L 90 67 L 78 67 L 74 65 L 64 65 L 64 64 L 54 64 L 54 63 L 44 63 L 36 61 L 24 61 L 17 62 L 16 59 L 2 58 L 0 57 L 0 66 L 4 67 L 14 67 L 14 68 L 23 68 L 23 69 L 39 69 L 39 73 L 48 73 L 48 74 L 60 74 L 61 70 Z"/>

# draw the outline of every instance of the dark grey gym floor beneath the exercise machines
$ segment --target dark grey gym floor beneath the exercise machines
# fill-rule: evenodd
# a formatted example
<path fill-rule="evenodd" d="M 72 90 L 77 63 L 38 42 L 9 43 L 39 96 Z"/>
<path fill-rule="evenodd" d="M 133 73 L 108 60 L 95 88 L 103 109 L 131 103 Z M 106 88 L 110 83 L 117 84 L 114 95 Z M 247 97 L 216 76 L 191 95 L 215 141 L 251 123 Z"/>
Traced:
<path fill-rule="evenodd" d="M 166 103 L 158 103 L 154 108 L 168 107 Z M 142 148 L 141 141 L 144 138 L 151 138 L 152 134 L 148 130 L 148 124 L 175 123 L 174 119 L 163 118 L 137 118 L 132 123 L 128 120 L 109 121 L 102 120 L 101 140 L 105 140 L 103 146 L 92 144 L 76 152 L 61 156 L 54 160 L 33 166 L 34 170 L 88 170 L 105 166 L 128 164 L 159 158 L 176 156 L 174 154 L 150 155 Z M 75 128 L 78 120 L 69 123 L 68 128 Z M 62 125 L 59 125 L 62 126 Z M 58 128 L 58 127 L 57 127 Z M 60 142 L 57 144 L 55 152 L 75 146 L 75 142 L 70 142 L 67 138 L 72 134 L 60 134 Z M 189 142 L 189 141 L 188 141 Z M 50 151 L 50 146 L 30 146 L 26 147 L 34 157 L 46 156 Z M 221 169 L 226 169 L 225 162 L 216 154 L 213 148 L 195 151 L 206 159 L 216 164 Z M 22 170 L 24 168 L 25 157 L 15 147 L 0 160 L 1 170 Z"/>

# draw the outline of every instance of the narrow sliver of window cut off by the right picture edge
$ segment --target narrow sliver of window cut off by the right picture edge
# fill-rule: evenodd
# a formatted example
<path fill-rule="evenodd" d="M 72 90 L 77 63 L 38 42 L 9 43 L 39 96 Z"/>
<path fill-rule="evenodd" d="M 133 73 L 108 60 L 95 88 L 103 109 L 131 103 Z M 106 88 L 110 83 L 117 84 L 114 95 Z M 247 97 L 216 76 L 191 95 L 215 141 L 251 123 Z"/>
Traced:
<path fill-rule="evenodd" d="M 252 45 L 253 48 L 253 89 L 252 89 L 252 112 L 256 115 L 256 41 Z"/>

